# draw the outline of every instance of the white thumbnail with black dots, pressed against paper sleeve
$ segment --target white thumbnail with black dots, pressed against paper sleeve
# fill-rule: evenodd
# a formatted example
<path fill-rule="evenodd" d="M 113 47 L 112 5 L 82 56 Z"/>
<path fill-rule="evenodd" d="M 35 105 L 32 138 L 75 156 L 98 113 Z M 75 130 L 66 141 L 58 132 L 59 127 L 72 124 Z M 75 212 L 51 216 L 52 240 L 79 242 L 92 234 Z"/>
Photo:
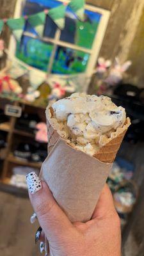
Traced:
<path fill-rule="evenodd" d="M 35 172 L 26 175 L 29 192 L 33 195 L 42 188 L 42 182 Z"/>

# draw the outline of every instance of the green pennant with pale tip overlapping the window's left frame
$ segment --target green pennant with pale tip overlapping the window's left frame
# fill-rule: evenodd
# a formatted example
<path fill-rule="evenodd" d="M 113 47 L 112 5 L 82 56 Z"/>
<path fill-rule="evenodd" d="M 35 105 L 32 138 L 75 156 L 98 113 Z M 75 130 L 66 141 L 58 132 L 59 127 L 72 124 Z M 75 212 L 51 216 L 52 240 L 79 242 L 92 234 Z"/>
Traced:
<path fill-rule="evenodd" d="M 20 42 L 22 33 L 24 31 L 25 19 L 23 17 L 19 19 L 8 19 L 6 22 L 8 27 L 12 30 L 13 35 Z"/>

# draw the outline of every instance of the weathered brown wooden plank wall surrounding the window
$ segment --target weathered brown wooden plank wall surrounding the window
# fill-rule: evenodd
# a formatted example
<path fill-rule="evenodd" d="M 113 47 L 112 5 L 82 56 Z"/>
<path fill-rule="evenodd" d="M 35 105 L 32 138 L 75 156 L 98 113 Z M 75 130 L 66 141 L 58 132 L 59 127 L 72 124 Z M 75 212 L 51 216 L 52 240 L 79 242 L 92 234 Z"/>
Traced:
<path fill-rule="evenodd" d="M 0 0 L 0 18 L 12 17 L 15 2 L 16 0 Z M 131 81 L 143 86 L 144 0 L 87 0 L 86 3 L 111 11 L 100 56 L 112 60 L 119 56 L 122 62 L 131 59 Z M 7 44 L 10 36 L 8 29 L 3 36 Z"/>

